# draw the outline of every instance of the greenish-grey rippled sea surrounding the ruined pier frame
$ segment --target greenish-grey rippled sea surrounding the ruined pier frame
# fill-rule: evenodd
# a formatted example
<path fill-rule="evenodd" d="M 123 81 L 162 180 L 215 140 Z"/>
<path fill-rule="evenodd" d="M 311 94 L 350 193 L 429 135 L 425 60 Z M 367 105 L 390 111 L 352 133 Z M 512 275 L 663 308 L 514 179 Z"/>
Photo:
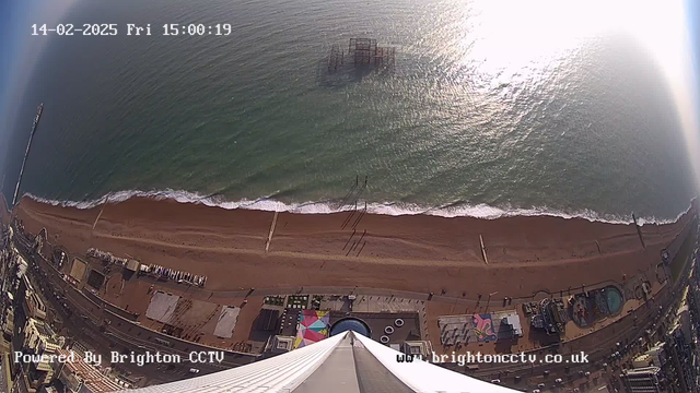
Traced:
<path fill-rule="evenodd" d="M 511 3 L 513 4 L 513 3 Z M 498 1 L 79 1 L 21 97 L 3 192 L 90 206 L 137 192 L 226 207 L 675 219 L 693 196 L 657 60 L 614 32 Z M 571 15 L 569 15 L 571 17 Z M 575 15 L 573 15 L 575 16 Z M 152 36 L 127 36 L 126 24 Z M 163 24 L 232 25 L 163 36 Z M 396 48 L 328 72 L 334 44 Z M 346 58 L 346 62 L 351 60 Z M 346 207 L 347 209 L 347 207 Z"/>

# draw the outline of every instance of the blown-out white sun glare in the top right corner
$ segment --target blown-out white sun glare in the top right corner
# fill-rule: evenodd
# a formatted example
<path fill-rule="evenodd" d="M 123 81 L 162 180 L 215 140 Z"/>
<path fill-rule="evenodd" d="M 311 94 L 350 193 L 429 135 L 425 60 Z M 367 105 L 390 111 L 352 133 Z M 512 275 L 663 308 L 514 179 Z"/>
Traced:
<path fill-rule="evenodd" d="M 466 8 L 465 16 L 477 17 L 462 19 L 456 55 L 464 57 L 463 64 L 476 61 L 477 86 L 508 83 L 521 74 L 544 78 L 548 73 L 538 71 L 596 37 L 620 35 L 638 41 L 673 93 L 700 183 L 696 76 L 682 0 L 485 0 Z"/>

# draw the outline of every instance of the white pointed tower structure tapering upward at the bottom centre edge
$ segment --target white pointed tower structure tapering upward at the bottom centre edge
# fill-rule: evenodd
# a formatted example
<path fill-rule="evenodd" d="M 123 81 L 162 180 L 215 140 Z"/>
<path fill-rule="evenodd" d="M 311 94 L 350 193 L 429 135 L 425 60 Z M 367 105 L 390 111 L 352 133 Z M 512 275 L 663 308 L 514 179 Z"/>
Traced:
<path fill-rule="evenodd" d="M 427 361 L 397 361 L 399 357 L 405 360 L 400 352 L 345 331 L 250 365 L 129 392 L 515 392 Z"/>

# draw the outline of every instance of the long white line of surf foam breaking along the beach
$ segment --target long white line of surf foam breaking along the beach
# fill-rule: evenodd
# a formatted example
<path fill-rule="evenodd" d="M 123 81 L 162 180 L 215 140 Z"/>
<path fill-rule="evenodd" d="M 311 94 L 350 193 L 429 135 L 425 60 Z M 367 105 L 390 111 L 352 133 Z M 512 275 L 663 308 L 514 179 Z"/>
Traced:
<path fill-rule="evenodd" d="M 240 201 L 226 201 L 219 195 L 202 195 L 196 192 L 182 191 L 182 190 L 162 190 L 162 191 L 139 191 L 139 190 L 125 190 L 112 192 L 96 200 L 91 201 L 55 201 L 40 196 L 36 196 L 32 193 L 25 193 L 37 202 L 51 204 L 55 206 L 71 206 L 77 209 L 91 209 L 98 206 L 106 200 L 109 203 L 124 202 L 131 198 L 149 198 L 153 200 L 174 200 L 179 203 L 199 203 L 207 206 L 219 206 L 226 210 L 234 209 L 247 209 L 259 210 L 268 212 L 292 212 L 300 214 L 328 214 L 336 212 L 343 212 L 353 209 L 354 206 L 337 206 L 337 203 L 329 201 L 322 202 L 304 202 L 304 203 L 284 203 L 270 198 L 260 198 L 257 200 L 240 200 Z M 360 205 L 359 205 L 360 206 Z M 644 224 L 670 224 L 678 221 L 684 214 L 690 210 L 690 206 L 675 219 L 661 219 L 657 217 L 638 217 L 640 225 Z M 510 209 L 510 207 L 495 207 L 487 204 L 468 205 L 455 203 L 448 206 L 425 207 L 418 204 L 407 203 L 369 203 L 368 212 L 374 214 L 384 215 L 416 215 L 427 214 L 441 217 L 476 217 L 485 219 L 495 219 L 500 217 L 513 217 L 513 216 L 552 216 L 562 218 L 584 218 L 590 222 L 600 222 L 610 224 L 630 224 L 632 222 L 629 215 L 612 215 L 612 214 L 599 214 L 592 210 L 581 210 L 575 212 L 564 212 L 559 210 L 552 210 L 548 207 L 535 207 L 535 209 Z"/>

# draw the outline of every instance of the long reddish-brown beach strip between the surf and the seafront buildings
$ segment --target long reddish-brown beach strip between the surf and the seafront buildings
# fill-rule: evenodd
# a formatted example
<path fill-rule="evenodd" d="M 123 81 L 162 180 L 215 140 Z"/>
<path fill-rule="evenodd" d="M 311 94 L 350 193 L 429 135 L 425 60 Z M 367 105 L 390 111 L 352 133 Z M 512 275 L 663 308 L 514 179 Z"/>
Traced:
<path fill-rule="evenodd" d="M 357 214 L 342 229 L 350 213 L 280 213 L 266 252 L 273 212 L 148 199 L 101 210 L 24 198 L 15 213 L 26 230 L 36 234 L 46 227 L 49 241 L 72 254 L 95 247 L 142 263 L 206 274 L 211 290 L 360 286 L 436 294 L 444 289 L 448 296 L 466 293 L 468 298 L 493 290 L 499 297 L 527 297 L 621 281 L 658 263 L 661 250 L 690 216 L 644 225 L 644 249 L 633 225 L 581 218 L 366 214 L 352 235 Z"/>

